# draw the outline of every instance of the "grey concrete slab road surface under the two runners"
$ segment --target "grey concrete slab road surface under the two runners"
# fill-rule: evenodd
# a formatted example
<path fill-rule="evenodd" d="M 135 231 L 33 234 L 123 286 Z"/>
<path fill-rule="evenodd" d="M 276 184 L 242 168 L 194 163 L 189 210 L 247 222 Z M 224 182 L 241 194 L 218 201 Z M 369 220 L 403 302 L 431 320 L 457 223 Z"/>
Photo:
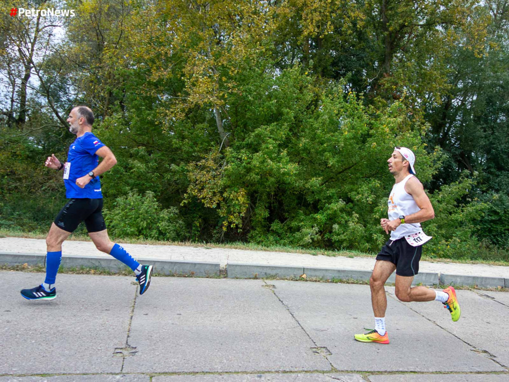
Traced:
<path fill-rule="evenodd" d="M 504 382 L 509 293 L 459 290 L 453 322 L 437 301 L 387 291 L 390 343 L 367 285 L 58 275 L 52 301 L 19 294 L 43 274 L 0 271 L 0 382 Z"/>

